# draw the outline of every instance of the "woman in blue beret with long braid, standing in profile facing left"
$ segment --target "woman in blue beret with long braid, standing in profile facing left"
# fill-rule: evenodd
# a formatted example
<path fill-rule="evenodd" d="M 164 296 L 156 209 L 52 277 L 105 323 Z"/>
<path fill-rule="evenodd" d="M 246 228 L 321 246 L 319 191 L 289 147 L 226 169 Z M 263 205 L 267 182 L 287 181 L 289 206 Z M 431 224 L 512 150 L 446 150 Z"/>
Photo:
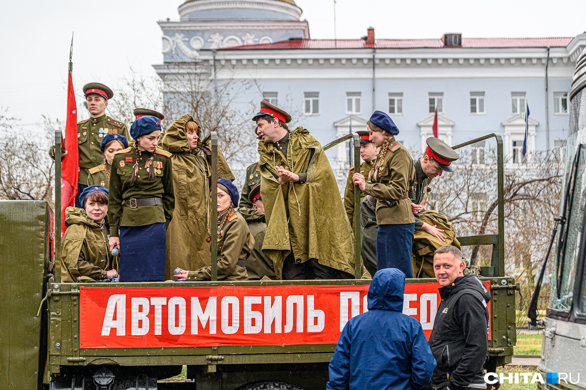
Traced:
<path fill-rule="evenodd" d="M 369 183 L 366 183 L 366 179 L 360 173 L 355 173 L 353 180 L 360 190 L 378 200 L 376 268 L 398 268 L 410 278 L 413 275 L 411 247 L 415 218 L 408 195 L 415 182 L 413 158 L 407 149 L 395 140 L 399 129 L 389 115 L 382 111 L 374 111 L 366 124 L 370 141 L 380 148 L 379 156 L 370 170 Z"/>

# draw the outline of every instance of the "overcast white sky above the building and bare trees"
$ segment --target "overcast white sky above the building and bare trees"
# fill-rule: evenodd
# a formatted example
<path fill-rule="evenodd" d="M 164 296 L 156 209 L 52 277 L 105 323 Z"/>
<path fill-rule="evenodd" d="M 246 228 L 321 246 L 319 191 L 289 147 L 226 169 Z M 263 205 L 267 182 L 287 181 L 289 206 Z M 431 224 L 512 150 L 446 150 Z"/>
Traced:
<path fill-rule="evenodd" d="M 11 1 L 0 16 L 0 107 L 31 131 L 40 115 L 64 118 L 67 63 L 75 32 L 76 94 L 90 81 L 106 85 L 130 66 L 152 74 L 162 62 L 156 24 L 178 19 L 181 0 Z M 296 0 L 314 39 L 333 38 L 333 0 Z M 338 38 L 357 39 L 373 26 L 377 38 L 575 36 L 586 30 L 586 1 L 337 0 Z M 78 98 L 79 100 L 79 98 Z M 78 101 L 79 104 L 79 101 Z M 80 112 L 81 114 L 81 112 Z M 80 119 L 85 118 L 81 114 Z"/>

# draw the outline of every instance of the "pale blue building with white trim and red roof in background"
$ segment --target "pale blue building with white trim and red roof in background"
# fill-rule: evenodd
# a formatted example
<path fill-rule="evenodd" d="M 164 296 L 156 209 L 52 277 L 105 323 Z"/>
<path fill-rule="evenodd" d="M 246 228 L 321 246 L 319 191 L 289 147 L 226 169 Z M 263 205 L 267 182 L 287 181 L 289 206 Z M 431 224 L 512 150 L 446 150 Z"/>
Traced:
<path fill-rule="evenodd" d="M 527 106 L 529 151 L 563 145 L 571 77 L 586 46 L 586 33 L 400 40 L 376 39 L 371 28 L 361 39 L 311 39 L 293 0 L 191 0 L 179 6 L 179 15 L 159 22 L 159 76 L 180 72 L 174 64 L 195 61 L 210 78 L 254 79 L 260 90 L 250 93 L 251 100 L 279 105 L 289 98 L 299 124 L 322 145 L 350 127 L 366 129 L 380 110 L 397 124 L 399 141 L 423 150 L 437 108 L 439 138 L 456 145 L 499 132 L 510 163 L 523 163 Z M 328 157 L 345 175 L 347 142 L 329 149 Z"/>

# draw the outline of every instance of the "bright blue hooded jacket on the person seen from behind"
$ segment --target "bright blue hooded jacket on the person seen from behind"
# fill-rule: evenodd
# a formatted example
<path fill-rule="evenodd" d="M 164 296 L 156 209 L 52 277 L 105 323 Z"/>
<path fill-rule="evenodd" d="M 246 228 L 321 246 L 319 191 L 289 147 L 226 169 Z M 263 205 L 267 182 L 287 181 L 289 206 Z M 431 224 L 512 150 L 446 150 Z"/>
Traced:
<path fill-rule="evenodd" d="M 421 323 L 403 314 L 405 274 L 374 274 L 368 312 L 350 319 L 329 364 L 328 390 L 418 390 L 428 384 L 435 359 Z"/>

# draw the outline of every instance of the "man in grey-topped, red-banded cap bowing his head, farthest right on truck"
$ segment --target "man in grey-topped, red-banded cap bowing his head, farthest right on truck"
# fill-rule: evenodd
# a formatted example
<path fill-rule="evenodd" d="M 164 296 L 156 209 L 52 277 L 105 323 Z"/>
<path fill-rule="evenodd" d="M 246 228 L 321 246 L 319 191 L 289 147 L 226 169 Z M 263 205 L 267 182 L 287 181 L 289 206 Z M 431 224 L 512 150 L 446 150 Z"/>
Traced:
<path fill-rule="evenodd" d="M 420 159 L 413 160 L 415 166 L 415 184 L 409 190 L 411 210 L 415 214 L 415 231 L 423 229 L 429 234 L 445 241 L 443 230 L 436 225 L 432 226 L 419 219 L 421 211 L 431 191 L 429 184 L 434 177 L 441 176 L 443 172 L 454 172 L 452 162 L 459 158 L 458 153 L 450 148 L 447 143 L 438 138 L 430 137 L 425 140 L 427 147 Z"/>

